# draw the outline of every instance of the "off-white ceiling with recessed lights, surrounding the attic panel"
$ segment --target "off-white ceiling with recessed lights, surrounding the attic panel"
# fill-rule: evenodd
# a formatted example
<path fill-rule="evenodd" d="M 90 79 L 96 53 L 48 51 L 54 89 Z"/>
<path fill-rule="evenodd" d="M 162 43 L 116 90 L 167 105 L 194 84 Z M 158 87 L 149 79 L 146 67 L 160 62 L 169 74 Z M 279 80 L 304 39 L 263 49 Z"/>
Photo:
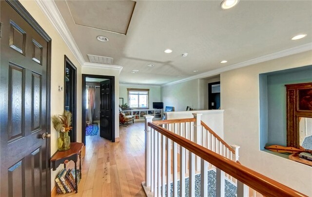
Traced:
<path fill-rule="evenodd" d="M 92 7 L 110 3 L 82 2 Z M 119 80 L 125 83 L 165 84 L 312 42 L 311 0 L 241 0 L 229 10 L 222 10 L 221 2 L 137 1 L 125 36 L 87 27 L 92 20 L 77 25 L 70 3 L 55 1 L 84 60 L 89 61 L 87 54 L 114 58 L 115 65 L 123 66 Z M 80 18 L 97 15 L 80 9 Z M 307 37 L 291 40 L 299 33 Z M 98 41 L 98 35 L 109 41 Z M 173 52 L 164 53 L 167 48 Z M 183 58 L 182 53 L 189 55 Z M 221 64 L 223 59 L 228 62 Z M 134 69 L 139 72 L 132 74 Z"/>

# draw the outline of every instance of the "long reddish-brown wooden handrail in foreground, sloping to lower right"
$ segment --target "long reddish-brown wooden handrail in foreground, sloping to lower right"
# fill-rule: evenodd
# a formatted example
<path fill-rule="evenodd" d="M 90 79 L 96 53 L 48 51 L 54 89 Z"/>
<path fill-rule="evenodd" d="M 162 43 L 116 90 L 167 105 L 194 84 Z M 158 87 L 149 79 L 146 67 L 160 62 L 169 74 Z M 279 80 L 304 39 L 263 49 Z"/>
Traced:
<path fill-rule="evenodd" d="M 170 132 L 153 122 L 149 122 L 148 126 L 266 197 L 307 197 L 269 177 L 261 175 L 260 173 L 210 151 L 191 140 Z"/>

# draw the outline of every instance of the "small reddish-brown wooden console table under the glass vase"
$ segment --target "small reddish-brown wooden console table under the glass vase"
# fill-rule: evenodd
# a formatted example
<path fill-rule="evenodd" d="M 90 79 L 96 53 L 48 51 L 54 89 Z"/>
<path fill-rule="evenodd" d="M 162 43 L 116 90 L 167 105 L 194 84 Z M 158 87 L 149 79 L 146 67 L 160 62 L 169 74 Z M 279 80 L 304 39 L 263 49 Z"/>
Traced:
<path fill-rule="evenodd" d="M 67 151 L 58 151 L 51 158 L 50 162 L 52 163 L 52 169 L 55 171 L 60 164 L 64 164 L 64 168 L 66 168 L 66 164 L 72 160 L 75 162 L 75 183 L 76 183 L 76 193 L 78 193 L 78 178 L 77 178 L 77 161 L 79 155 L 79 177 L 81 179 L 81 150 L 83 147 L 83 143 L 79 142 L 71 142 L 70 149 Z"/>

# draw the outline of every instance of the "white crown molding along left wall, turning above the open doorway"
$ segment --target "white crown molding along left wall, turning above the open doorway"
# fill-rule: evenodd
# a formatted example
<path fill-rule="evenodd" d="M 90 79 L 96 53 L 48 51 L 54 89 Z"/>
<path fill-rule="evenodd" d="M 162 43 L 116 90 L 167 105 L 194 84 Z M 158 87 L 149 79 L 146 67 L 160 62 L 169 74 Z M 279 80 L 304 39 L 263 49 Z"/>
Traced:
<path fill-rule="evenodd" d="M 86 62 L 70 33 L 64 19 L 59 13 L 59 9 L 53 0 L 36 0 L 42 12 L 54 26 L 54 28 L 59 33 L 60 37 L 64 40 L 68 48 L 72 51 L 78 62 L 82 67 L 91 67 L 91 68 L 99 68 L 99 69 L 111 69 L 111 70 L 119 70 L 121 72 L 122 66 L 117 65 L 106 65 L 106 64 L 94 64 Z"/>

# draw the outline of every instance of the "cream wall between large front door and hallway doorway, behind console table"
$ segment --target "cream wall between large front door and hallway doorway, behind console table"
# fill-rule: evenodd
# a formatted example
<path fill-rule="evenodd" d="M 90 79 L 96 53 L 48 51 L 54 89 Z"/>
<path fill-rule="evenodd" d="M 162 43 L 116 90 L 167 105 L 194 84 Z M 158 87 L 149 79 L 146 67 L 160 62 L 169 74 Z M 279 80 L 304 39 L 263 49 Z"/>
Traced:
<path fill-rule="evenodd" d="M 52 39 L 51 60 L 51 116 L 64 111 L 64 92 L 59 92 L 59 85 L 64 87 L 64 55 L 77 67 L 77 120 L 81 119 L 81 65 L 67 47 L 59 33 L 54 29 L 35 1 L 21 0 L 21 4 L 39 23 Z M 77 141 L 81 141 L 81 124 L 77 124 Z M 53 128 L 51 122 L 51 156 L 58 150 L 57 139 L 59 133 Z M 51 171 L 51 189 L 55 185 L 55 177 L 62 168 Z"/>

